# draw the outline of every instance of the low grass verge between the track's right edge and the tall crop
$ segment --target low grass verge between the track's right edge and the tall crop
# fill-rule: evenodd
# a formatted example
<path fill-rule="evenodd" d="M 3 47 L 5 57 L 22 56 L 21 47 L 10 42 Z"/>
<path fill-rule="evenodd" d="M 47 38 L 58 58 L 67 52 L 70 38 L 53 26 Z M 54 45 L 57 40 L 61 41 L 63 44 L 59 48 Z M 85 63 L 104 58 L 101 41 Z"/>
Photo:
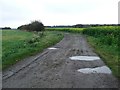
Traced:
<path fill-rule="evenodd" d="M 94 47 L 94 51 L 103 59 L 105 64 L 112 70 L 113 75 L 120 79 L 118 47 L 115 45 L 100 44 L 100 38 L 87 36 L 88 43 Z"/>

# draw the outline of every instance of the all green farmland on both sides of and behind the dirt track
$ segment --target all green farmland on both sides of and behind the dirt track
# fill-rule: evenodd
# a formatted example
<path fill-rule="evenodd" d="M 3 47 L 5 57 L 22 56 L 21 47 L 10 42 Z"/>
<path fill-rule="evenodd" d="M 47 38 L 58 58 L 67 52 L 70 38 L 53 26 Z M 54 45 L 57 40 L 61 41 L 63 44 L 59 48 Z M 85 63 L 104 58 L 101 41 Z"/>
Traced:
<path fill-rule="evenodd" d="M 40 34 L 23 31 L 3 31 L 3 68 L 6 68 L 20 59 L 34 55 L 44 48 L 59 42 L 63 32 L 79 33 L 87 37 L 94 51 L 111 68 L 113 74 L 120 77 L 118 72 L 120 44 L 120 27 L 101 26 L 90 28 L 46 28 L 41 37 Z"/>

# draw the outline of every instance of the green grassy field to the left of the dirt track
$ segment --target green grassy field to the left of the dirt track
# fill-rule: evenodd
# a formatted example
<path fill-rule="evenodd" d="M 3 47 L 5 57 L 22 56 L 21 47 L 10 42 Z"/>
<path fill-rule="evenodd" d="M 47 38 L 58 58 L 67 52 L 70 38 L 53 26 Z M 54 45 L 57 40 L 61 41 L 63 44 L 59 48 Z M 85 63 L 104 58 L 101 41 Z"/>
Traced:
<path fill-rule="evenodd" d="M 41 33 L 25 32 L 20 30 L 2 31 L 2 67 L 3 69 L 17 61 L 34 55 L 43 49 L 54 45 L 63 38 L 57 31 Z"/>

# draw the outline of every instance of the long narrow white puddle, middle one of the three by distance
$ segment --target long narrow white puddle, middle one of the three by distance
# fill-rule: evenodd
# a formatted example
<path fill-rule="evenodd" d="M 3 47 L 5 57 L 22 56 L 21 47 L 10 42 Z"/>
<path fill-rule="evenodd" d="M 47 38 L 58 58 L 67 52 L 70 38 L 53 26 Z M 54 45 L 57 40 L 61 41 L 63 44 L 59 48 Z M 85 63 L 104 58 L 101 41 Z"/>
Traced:
<path fill-rule="evenodd" d="M 82 60 L 82 61 L 94 61 L 94 60 L 100 60 L 97 56 L 73 56 L 70 57 L 71 60 Z"/>

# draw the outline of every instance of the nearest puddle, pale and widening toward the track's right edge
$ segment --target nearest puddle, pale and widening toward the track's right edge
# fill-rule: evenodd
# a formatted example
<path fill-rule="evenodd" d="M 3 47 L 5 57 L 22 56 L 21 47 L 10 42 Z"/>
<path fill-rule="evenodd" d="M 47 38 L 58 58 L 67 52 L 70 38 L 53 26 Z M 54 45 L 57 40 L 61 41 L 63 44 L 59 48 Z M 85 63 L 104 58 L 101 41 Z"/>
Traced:
<path fill-rule="evenodd" d="M 105 73 L 105 74 L 111 74 L 111 70 L 107 66 L 97 67 L 97 68 L 84 68 L 77 70 L 78 72 L 82 73 Z"/>

